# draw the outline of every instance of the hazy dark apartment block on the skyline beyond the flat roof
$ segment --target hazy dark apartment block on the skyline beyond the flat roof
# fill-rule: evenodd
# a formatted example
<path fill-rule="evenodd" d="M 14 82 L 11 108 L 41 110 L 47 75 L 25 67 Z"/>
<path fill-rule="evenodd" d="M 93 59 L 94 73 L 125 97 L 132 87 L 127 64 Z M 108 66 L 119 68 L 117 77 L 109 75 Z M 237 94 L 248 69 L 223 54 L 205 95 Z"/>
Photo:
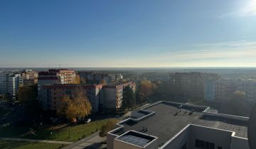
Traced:
<path fill-rule="evenodd" d="M 201 72 L 176 72 L 170 78 L 174 94 L 203 99 L 206 79 L 218 79 L 219 76 Z"/>

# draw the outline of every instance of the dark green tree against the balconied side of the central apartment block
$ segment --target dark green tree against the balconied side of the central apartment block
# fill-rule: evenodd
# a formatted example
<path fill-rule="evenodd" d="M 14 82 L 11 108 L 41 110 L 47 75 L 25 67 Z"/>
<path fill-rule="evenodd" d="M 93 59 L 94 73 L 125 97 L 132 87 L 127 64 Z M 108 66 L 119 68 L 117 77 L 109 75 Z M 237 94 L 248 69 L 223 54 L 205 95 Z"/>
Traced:
<path fill-rule="evenodd" d="M 135 94 L 131 87 L 127 86 L 123 90 L 122 106 L 124 108 L 132 108 L 136 104 Z"/>

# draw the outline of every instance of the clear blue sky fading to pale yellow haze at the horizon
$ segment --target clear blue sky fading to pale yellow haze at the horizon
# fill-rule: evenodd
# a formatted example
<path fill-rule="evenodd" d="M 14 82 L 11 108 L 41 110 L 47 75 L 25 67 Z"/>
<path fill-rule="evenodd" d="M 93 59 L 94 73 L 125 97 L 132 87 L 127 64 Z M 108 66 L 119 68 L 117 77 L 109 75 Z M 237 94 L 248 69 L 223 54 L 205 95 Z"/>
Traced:
<path fill-rule="evenodd" d="M 256 67 L 256 0 L 0 0 L 0 67 Z"/>

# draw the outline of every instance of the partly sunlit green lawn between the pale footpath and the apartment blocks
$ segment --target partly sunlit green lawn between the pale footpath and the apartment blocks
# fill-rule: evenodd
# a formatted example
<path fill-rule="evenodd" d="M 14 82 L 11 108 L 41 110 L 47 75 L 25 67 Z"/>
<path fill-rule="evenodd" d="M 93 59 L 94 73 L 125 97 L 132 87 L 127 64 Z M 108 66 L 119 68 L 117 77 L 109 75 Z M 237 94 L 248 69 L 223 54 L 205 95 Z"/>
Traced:
<path fill-rule="evenodd" d="M 31 138 L 39 140 L 63 140 L 63 141 L 78 141 L 78 138 L 82 136 L 90 136 L 96 130 L 100 131 L 100 128 L 107 123 L 108 119 L 92 121 L 87 124 L 80 124 L 58 130 L 52 131 L 50 128 L 34 129 L 36 136 L 21 136 L 23 133 L 28 132 L 29 128 L 26 127 L 14 127 L 9 126 L 6 128 L 0 128 L 0 137 L 16 137 L 16 138 Z M 70 138 L 68 138 L 68 129 L 70 129 Z M 53 132 L 50 135 L 50 132 Z"/>

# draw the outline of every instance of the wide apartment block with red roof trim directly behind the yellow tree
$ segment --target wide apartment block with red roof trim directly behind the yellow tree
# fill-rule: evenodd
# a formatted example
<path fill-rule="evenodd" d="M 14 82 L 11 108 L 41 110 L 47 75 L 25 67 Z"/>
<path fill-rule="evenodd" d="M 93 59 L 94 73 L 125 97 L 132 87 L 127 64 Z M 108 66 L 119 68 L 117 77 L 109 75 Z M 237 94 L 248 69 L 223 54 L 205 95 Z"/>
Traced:
<path fill-rule="evenodd" d="M 57 110 L 62 105 L 65 96 L 72 99 L 76 92 L 85 92 L 90 101 L 92 112 L 99 111 L 100 99 L 102 99 L 102 84 L 80 85 L 80 84 L 48 84 L 43 85 L 43 103 L 46 103 L 43 110 Z"/>

